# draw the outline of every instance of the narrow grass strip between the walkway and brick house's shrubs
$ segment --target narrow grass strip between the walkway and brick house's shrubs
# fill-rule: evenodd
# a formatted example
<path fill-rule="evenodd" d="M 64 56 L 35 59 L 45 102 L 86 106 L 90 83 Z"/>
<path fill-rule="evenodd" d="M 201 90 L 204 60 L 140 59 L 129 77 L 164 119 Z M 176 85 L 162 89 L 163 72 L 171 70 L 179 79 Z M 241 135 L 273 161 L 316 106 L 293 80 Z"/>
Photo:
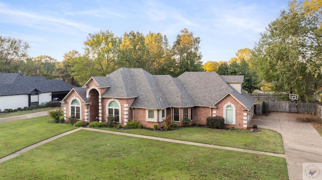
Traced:
<path fill-rule="evenodd" d="M 116 131 L 115 128 L 102 129 Z M 152 131 L 147 129 L 117 131 L 284 154 L 282 135 L 269 129 L 262 129 L 255 133 L 205 127 L 180 128 L 173 131 Z"/>

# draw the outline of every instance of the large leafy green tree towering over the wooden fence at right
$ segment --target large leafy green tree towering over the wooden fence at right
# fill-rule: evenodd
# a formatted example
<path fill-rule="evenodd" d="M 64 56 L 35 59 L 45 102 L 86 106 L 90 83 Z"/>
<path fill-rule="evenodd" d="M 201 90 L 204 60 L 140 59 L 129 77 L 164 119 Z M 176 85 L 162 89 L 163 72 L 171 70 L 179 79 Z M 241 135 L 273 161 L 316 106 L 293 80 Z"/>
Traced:
<path fill-rule="evenodd" d="M 322 16 L 309 14 L 304 5 L 290 2 L 289 11 L 269 24 L 252 52 L 252 64 L 273 91 L 309 96 L 312 87 L 320 86 Z"/>

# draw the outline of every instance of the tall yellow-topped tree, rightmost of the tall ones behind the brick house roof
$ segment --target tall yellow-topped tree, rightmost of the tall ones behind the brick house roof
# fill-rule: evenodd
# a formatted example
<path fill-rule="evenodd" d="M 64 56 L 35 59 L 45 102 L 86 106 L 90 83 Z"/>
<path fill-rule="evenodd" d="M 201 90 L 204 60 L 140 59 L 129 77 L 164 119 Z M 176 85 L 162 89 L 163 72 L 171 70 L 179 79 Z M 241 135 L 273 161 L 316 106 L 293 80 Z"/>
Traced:
<path fill-rule="evenodd" d="M 177 36 L 173 49 L 177 62 L 178 73 L 181 75 L 186 71 L 203 71 L 202 54 L 199 52 L 200 38 L 194 37 L 192 32 L 187 29 L 181 30 L 181 34 Z"/>

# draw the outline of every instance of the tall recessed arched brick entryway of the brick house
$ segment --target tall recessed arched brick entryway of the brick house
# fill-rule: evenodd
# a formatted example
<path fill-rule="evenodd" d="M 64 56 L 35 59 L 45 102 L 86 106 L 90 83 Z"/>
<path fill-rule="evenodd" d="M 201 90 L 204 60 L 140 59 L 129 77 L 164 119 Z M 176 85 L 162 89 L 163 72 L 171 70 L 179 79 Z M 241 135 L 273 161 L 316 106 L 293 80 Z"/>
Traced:
<path fill-rule="evenodd" d="M 91 89 L 88 100 L 90 105 L 90 122 L 98 121 L 99 118 L 99 92 L 96 89 Z"/>

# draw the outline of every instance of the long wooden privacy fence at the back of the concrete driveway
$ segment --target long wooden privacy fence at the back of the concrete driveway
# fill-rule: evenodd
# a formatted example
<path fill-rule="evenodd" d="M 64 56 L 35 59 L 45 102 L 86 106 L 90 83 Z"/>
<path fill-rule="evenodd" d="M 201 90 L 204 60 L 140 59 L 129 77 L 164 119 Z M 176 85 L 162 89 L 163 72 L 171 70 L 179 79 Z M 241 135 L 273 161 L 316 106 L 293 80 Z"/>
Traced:
<path fill-rule="evenodd" d="M 255 114 L 262 115 L 268 112 L 298 112 L 298 113 L 315 113 L 315 103 L 305 102 L 272 102 L 264 101 L 263 104 L 255 105 Z"/>

